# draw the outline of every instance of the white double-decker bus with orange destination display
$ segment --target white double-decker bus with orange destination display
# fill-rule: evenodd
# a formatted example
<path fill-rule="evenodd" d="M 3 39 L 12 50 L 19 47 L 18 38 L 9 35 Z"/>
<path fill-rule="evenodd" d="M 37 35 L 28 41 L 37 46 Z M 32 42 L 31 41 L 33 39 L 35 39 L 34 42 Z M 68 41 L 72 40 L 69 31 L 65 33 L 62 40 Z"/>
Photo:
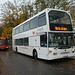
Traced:
<path fill-rule="evenodd" d="M 34 58 L 53 60 L 71 57 L 73 33 L 66 11 L 47 8 L 13 28 L 13 50 Z"/>

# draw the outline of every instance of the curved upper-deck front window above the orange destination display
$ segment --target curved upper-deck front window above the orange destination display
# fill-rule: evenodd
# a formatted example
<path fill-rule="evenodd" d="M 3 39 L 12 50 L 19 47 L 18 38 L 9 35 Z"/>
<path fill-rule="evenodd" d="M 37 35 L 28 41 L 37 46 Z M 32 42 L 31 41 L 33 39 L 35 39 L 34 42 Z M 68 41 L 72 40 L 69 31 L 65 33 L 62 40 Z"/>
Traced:
<path fill-rule="evenodd" d="M 55 10 L 49 12 L 49 22 L 58 24 L 71 24 L 70 16 L 67 13 Z"/>

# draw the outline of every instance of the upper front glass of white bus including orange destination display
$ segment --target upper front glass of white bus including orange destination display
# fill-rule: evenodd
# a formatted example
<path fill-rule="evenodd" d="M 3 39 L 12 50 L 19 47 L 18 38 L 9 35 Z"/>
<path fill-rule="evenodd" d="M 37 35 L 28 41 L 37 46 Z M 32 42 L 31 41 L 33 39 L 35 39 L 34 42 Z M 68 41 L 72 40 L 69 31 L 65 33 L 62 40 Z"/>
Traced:
<path fill-rule="evenodd" d="M 51 10 L 49 12 L 50 30 L 72 31 L 70 16 L 66 12 Z"/>

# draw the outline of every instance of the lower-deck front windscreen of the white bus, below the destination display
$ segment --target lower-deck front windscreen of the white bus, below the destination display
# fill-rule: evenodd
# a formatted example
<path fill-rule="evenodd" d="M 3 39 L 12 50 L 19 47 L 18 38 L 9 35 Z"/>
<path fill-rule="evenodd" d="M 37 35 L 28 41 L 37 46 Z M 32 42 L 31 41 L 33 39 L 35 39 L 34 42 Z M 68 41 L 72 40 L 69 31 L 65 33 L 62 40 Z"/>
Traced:
<path fill-rule="evenodd" d="M 49 33 L 49 47 L 70 48 L 73 46 L 73 35 L 64 33 Z"/>

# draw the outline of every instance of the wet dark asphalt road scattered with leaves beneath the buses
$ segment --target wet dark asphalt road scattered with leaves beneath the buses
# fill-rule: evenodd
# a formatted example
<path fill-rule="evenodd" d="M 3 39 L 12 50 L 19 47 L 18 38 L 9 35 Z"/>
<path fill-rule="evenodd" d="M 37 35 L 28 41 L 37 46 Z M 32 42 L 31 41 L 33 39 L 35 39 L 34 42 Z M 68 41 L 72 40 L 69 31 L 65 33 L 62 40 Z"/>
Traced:
<path fill-rule="evenodd" d="M 75 75 L 73 59 L 34 60 L 11 49 L 0 50 L 0 75 Z"/>

